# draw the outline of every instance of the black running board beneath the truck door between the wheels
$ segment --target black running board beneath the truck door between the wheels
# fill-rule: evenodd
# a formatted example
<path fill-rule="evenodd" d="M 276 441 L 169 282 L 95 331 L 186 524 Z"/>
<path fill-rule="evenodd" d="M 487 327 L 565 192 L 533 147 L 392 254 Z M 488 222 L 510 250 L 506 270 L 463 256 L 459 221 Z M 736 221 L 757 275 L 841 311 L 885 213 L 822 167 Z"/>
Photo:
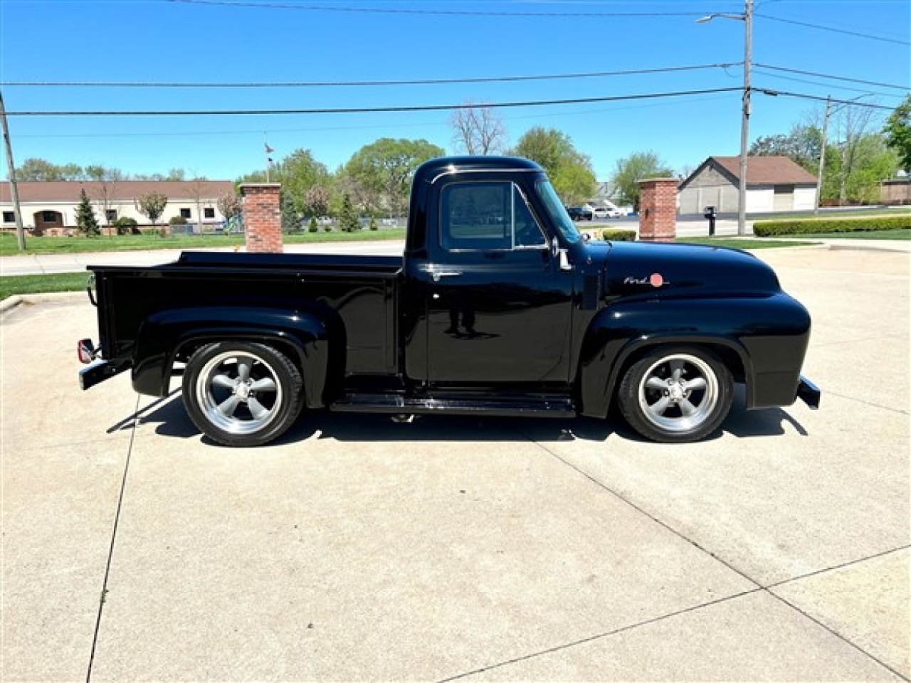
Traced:
<path fill-rule="evenodd" d="M 499 417 L 575 417 L 568 398 L 406 398 L 389 393 L 349 393 L 332 403 L 336 413 L 496 415 Z"/>

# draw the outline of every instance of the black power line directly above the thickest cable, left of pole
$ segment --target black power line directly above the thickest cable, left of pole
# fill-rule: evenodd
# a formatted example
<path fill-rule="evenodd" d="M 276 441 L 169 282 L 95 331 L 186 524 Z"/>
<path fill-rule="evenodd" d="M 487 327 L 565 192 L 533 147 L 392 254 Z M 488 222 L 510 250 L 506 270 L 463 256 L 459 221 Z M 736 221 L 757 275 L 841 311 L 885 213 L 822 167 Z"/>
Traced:
<path fill-rule="evenodd" d="M 517 81 L 561 80 L 571 78 L 600 78 L 606 76 L 643 76 L 648 74 L 672 73 L 678 71 L 697 71 L 701 69 L 741 66 L 742 62 L 724 62 L 721 64 L 699 64 L 691 66 L 664 66 L 649 69 L 627 69 L 623 71 L 595 71 L 578 74 L 546 74 L 539 76 L 478 76 L 467 78 L 423 78 L 414 80 L 384 81 L 275 81 L 275 82 L 148 82 L 148 81 L 5 81 L 0 86 L 9 87 L 399 87 L 399 86 L 439 86 L 463 83 L 510 83 Z"/>

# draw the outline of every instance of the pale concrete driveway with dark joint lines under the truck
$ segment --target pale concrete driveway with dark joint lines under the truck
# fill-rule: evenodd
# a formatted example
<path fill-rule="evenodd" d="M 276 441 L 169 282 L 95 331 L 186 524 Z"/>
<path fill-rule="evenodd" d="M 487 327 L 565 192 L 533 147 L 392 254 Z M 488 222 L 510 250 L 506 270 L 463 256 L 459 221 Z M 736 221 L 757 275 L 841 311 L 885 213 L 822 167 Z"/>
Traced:
<path fill-rule="evenodd" d="M 908 679 L 908 256 L 761 256 L 822 409 L 689 445 L 314 414 L 230 450 L 79 391 L 82 296 L 7 311 L 0 678 Z"/>

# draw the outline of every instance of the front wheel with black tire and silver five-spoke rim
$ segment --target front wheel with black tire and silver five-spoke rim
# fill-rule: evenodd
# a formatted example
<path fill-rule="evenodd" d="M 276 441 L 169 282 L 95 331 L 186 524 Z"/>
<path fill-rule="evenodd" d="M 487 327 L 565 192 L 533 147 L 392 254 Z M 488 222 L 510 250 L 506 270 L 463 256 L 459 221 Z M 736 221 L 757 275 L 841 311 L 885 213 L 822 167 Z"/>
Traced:
<path fill-rule="evenodd" d="M 647 439 L 700 441 L 730 412 L 733 378 L 724 363 L 704 349 L 659 347 L 630 365 L 617 399 L 627 423 Z"/>

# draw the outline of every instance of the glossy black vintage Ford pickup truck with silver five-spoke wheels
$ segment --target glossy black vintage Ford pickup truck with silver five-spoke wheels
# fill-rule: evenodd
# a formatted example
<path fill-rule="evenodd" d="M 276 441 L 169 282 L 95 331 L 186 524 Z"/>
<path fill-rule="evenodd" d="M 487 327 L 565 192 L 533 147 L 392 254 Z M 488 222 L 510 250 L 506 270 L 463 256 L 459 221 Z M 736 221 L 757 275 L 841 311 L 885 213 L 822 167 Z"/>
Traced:
<path fill-rule="evenodd" d="M 733 383 L 747 408 L 815 408 L 810 317 L 739 250 L 586 241 L 537 164 L 440 158 L 415 171 L 404 255 L 184 252 L 89 266 L 100 342 L 87 389 L 182 375 L 213 441 L 268 443 L 303 409 L 607 417 L 699 440 Z"/>

